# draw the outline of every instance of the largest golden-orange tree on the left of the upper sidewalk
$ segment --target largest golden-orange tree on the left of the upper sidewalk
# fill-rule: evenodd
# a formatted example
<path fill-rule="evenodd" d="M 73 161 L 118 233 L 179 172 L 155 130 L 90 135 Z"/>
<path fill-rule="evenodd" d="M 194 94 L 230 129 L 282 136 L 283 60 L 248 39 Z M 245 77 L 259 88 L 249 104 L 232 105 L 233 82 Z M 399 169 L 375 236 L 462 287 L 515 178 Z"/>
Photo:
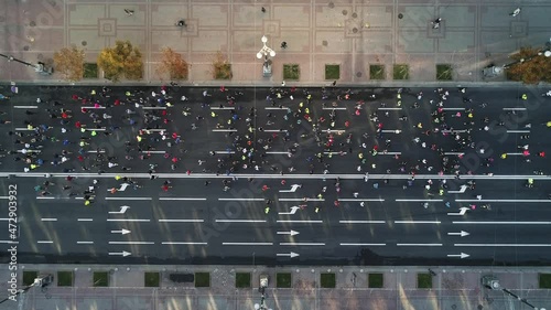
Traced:
<path fill-rule="evenodd" d="M 98 56 L 98 66 L 105 77 L 112 82 L 118 82 L 122 76 L 128 79 L 143 77 L 141 52 L 130 41 L 117 41 L 115 47 L 105 47 Z"/>

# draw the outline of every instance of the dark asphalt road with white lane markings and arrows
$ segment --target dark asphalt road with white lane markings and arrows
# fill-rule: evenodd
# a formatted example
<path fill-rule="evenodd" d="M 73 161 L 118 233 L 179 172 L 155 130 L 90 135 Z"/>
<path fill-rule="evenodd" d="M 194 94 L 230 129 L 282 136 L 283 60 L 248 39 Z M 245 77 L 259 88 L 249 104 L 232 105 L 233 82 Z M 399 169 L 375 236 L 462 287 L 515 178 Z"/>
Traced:
<path fill-rule="evenodd" d="M 402 89 L 401 98 L 398 89 L 347 90 L 326 89 L 322 99 L 321 89 L 307 89 L 309 103 L 304 89 L 289 87 L 170 87 L 172 98 L 161 100 L 151 94 L 159 87 L 112 87 L 105 96 L 101 87 L 20 87 L 1 103 L 0 119 L 11 122 L 0 125 L 10 152 L 0 165 L 0 243 L 17 245 L 28 263 L 549 265 L 551 177 L 540 152 L 550 149 L 551 100 L 543 90 L 444 89 L 446 127 L 431 116 L 436 89 Z M 71 110 L 66 125 L 61 108 Z M 465 186 L 472 181 L 474 189 Z"/>

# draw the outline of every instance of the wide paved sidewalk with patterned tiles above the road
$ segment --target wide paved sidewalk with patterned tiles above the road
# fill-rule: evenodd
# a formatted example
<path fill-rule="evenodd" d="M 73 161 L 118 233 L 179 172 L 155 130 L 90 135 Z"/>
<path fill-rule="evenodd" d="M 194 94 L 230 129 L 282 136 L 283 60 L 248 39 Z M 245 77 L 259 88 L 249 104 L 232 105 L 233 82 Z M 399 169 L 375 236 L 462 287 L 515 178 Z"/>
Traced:
<path fill-rule="evenodd" d="M 436 64 L 452 65 L 454 84 L 480 83 L 483 67 L 508 63 L 508 54 L 520 46 L 548 42 L 551 15 L 551 3 L 544 1 L 523 1 L 517 18 L 509 17 L 516 8 L 509 0 L 180 2 L 8 1 L 0 13 L 0 33 L 6 38 L 0 52 L 47 63 L 61 46 L 76 44 L 85 49 L 88 62 L 96 62 L 105 46 L 130 40 L 143 52 L 144 84 L 160 82 L 154 68 L 164 46 L 192 64 L 190 85 L 222 83 L 213 82 L 210 74 L 217 51 L 233 66 L 233 81 L 225 85 L 279 85 L 283 64 L 291 63 L 300 66 L 296 85 L 332 83 L 333 78 L 325 79 L 326 64 L 341 66 L 339 85 L 395 85 L 395 64 L 410 67 L 409 81 L 397 82 L 401 86 L 435 82 Z M 125 9 L 133 10 L 133 15 L 126 15 Z M 437 30 L 430 24 L 435 18 L 443 20 Z M 180 19 L 186 20 L 187 29 L 174 25 Z M 262 35 L 277 52 L 271 78 L 261 77 L 262 61 L 256 57 Z M 287 50 L 280 49 L 283 41 Z M 385 79 L 371 79 L 370 65 L 382 65 Z M 61 82 L 55 74 L 39 76 L 31 67 L 3 58 L 0 72 L 3 81 Z"/>

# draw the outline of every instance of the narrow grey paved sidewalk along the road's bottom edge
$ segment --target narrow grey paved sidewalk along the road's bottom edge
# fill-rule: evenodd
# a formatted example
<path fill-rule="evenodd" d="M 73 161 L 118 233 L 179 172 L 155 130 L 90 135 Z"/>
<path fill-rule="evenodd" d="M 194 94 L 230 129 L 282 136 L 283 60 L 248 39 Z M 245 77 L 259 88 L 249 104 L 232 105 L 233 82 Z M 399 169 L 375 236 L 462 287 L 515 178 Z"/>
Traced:
<path fill-rule="evenodd" d="M 482 275 L 495 275 L 506 288 L 537 308 L 551 308 L 551 290 L 539 289 L 538 272 L 551 268 L 433 268 L 432 289 L 418 289 L 418 272 L 423 267 L 279 267 L 263 266 L 100 266 L 100 265 L 19 265 L 18 282 L 23 271 L 54 275 L 54 284 L 45 289 L 31 288 L 18 297 L 18 302 L 7 301 L 0 310 L 242 310 L 255 309 L 260 302 L 259 277 L 270 278 L 267 304 L 281 310 L 504 310 L 528 309 L 520 301 L 499 290 L 488 290 L 480 285 Z M 74 287 L 58 287 L 57 271 L 73 271 Z M 94 271 L 109 272 L 109 288 L 93 287 Z M 160 272 L 160 286 L 144 287 L 144 272 Z M 170 274 L 210 272 L 210 288 L 195 288 L 193 284 L 176 284 Z M 251 288 L 235 288 L 236 272 L 250 272 Z M 290 272 L 292 288 L 276 287 L 276 274 Z M 336 287 L 321 288 L 321 274 L 335 274 Z M 368 275 L 383 274 L 382 288 L 369 288 Z M 0 291 L 7 291 L 7 265 L 0 270 Z M 6 296 L 2 296 L 4 298 Z M 18 304 L 17 308 L 14 304 Z M 512 308 L 509 308 L 512 307 Z"/>

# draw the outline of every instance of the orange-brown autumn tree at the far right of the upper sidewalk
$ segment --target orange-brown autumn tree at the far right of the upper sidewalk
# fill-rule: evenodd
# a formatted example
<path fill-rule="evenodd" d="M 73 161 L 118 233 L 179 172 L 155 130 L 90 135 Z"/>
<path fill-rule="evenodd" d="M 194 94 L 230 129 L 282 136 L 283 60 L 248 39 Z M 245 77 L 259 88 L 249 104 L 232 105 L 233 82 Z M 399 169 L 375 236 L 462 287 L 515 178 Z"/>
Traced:
<path fill-rule="evenodd" d="M 551 58 L 540 54 L 539 49 L 521 47 L 510 57 L 516 61 L 507 67 L 507 77 L 526 84 L 551 82 Z"/>

